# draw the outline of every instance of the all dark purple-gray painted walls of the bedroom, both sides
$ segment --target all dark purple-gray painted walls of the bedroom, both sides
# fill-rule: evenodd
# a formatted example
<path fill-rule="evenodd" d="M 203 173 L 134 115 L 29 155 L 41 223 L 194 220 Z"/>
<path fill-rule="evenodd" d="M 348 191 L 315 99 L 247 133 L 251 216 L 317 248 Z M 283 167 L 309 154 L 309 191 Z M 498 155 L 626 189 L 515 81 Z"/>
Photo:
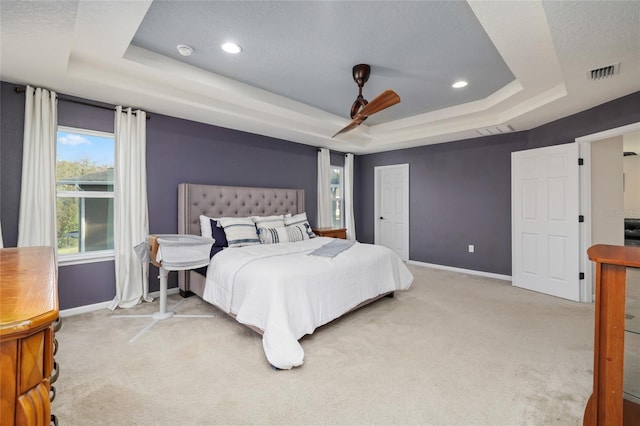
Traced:
<path fill-rule="evenodd" d="M 5 246 L 17 243 L 24 95 L 0 87 L 0 210 Z M 411 260 L 511 275 L 511 152 L 568 143 L 640 122 L 640 92 L 524 132 L 356 156 L 355 215 L 360 241 L 373 242 L 375 166 L 409 163 Z M 113 131 L 113 112 L 59 102 L 61 125 Z M 147 122 L 151 233 L 177 232 L 181 182 L 303 188 L 316 217 L 316 148 L 153 114 Z M 332 163 L 344 156 L 332 153 Z M 474 244 L 476 252 L 467 252 Z M 60 307 L 111 300 L 113 262 L 61 267 Z M 151 290 L 158 289 L 151 268 Z M 170 274 L 170 286 L 175 286 Z"/>

